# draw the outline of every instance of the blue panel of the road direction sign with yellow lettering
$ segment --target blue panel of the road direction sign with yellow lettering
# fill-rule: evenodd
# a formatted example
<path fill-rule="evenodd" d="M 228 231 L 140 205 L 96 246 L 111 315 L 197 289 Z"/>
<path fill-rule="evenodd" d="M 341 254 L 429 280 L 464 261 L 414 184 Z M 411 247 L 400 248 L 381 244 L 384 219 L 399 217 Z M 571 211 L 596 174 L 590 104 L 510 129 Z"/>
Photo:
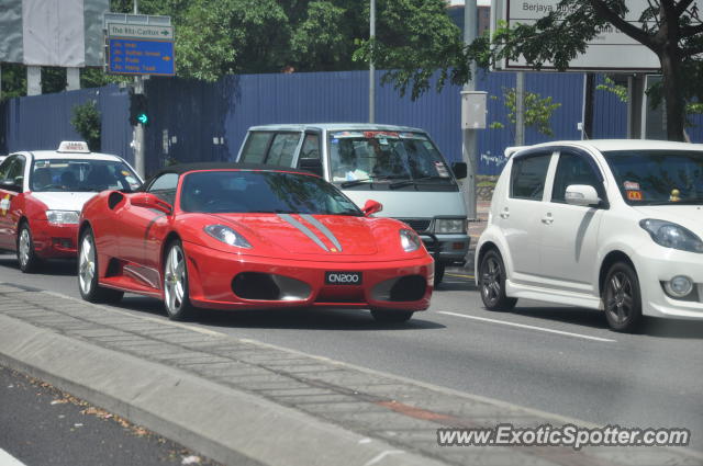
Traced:
<path fill-rule="evenodd" d="M 108 72 L 174 76 L 174 43 L 108 37 Z"/>

